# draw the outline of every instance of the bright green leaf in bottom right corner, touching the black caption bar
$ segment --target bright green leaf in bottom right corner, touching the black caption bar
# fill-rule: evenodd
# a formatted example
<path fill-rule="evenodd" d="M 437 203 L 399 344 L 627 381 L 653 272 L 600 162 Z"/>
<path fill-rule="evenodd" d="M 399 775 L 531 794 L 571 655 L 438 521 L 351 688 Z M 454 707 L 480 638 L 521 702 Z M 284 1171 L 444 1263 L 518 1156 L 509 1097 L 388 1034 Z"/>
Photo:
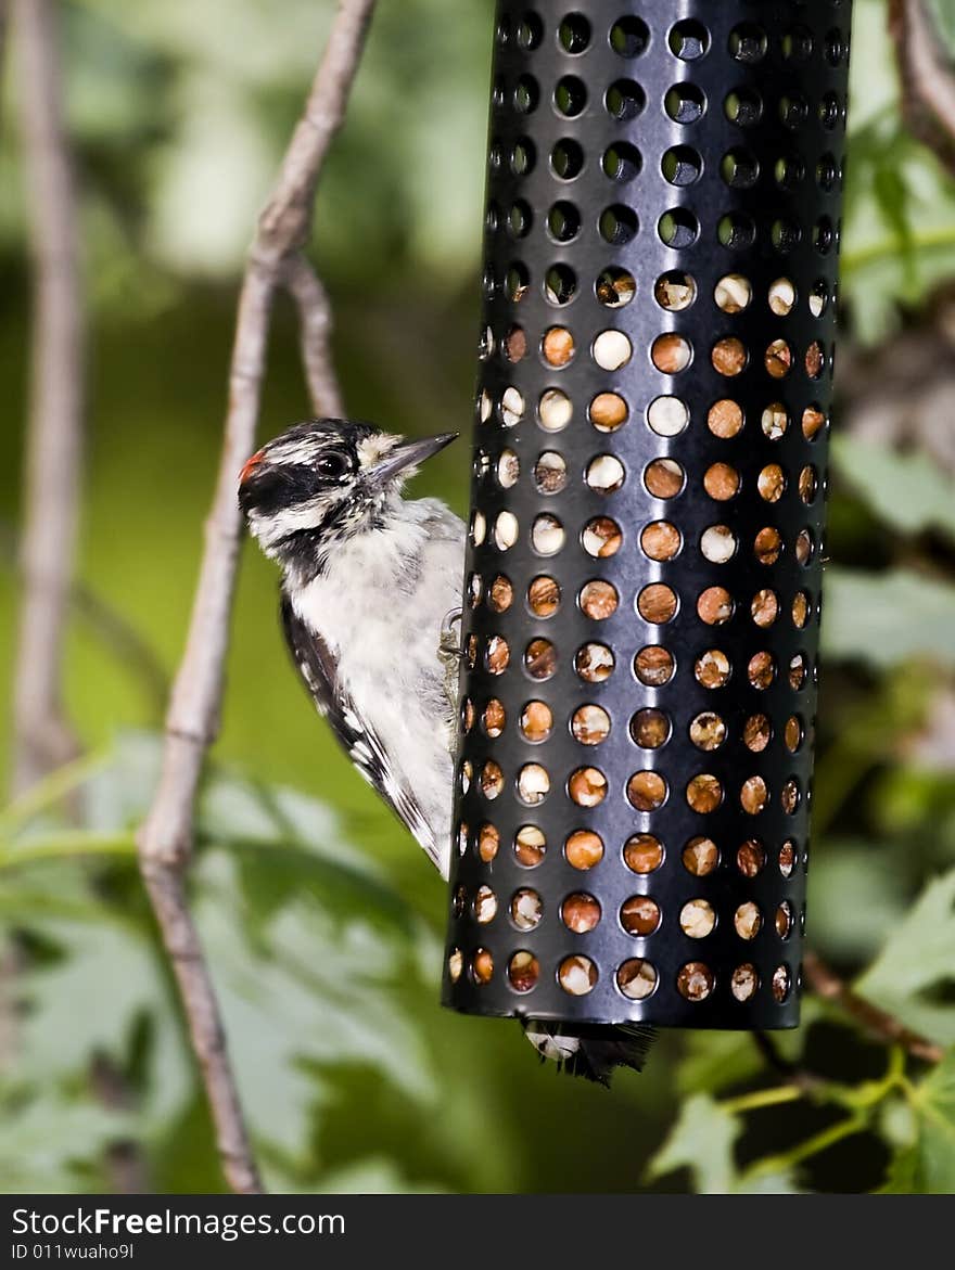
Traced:
<path fill-rule="evenodd" d="M 884 1194 L 955 1194 L 955 1050 L 916 1086 L 916 1140 L 897 1152 Z"/>

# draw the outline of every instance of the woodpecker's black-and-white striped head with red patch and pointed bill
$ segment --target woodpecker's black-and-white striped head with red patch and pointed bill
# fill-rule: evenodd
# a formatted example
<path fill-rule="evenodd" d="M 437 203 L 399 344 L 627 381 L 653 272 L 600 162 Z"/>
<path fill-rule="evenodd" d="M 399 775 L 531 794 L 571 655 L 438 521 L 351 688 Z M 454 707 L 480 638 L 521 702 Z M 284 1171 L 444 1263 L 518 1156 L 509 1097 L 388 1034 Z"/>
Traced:
<path fill-rule="evenodd" d="M 350 419 L 299 423 L 244 464 L 239 507 L 267 556 L 320 568 L 336 544 L 380 527 L 417 465 L 455 437 L 406 441 Z"/>

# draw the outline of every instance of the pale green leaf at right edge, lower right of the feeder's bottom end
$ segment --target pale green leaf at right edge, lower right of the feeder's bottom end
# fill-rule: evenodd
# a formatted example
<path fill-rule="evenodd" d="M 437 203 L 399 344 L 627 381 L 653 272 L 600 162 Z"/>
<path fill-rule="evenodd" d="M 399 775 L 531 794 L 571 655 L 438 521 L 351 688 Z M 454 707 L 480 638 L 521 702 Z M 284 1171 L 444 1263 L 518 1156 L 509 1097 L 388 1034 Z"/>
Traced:
<path fill-rule="evenodd" d="M 931 881 L 895 922 L 874 964 L 856 983 L 863 997 L 941 1045 L 955 1044 L 955 869 Z"/>

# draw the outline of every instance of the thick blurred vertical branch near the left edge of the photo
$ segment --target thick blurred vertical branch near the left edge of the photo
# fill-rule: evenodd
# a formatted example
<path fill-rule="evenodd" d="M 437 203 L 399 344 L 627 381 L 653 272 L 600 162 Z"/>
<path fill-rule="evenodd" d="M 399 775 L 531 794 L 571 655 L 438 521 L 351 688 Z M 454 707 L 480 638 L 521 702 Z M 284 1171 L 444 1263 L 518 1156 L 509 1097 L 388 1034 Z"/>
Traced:
<path fill-rule="evenodd" d="M 15 0 L 20 126 L 34 262 L 23 608 L 14 669 L 13 789 L 76 753 L 61 663 L 79 516 L 83 305 L 76 194 L 50 0 Z"/>

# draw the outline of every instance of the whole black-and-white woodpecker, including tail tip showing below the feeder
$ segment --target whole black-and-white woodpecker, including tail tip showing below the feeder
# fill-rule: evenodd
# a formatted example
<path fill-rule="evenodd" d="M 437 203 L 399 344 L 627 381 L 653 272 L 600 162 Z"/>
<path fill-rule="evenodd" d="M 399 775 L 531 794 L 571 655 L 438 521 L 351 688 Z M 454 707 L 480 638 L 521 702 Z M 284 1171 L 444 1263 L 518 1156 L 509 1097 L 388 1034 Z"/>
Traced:
<path fill-rule="evenodd" d="M 416 465 L 455 434 L 403 441 L 366 423 L 300 423 L 239 478 L 249 531 L 282 568 L 295 665 L 348 757 L 448 878 L 455 720 L 439 653 L 460 605 L 464 523 L 437 499 L 404 499 Z M 538 1053 L 607 1082 L 642 1067 L 647 1029 L 529 1020 Z"/>

